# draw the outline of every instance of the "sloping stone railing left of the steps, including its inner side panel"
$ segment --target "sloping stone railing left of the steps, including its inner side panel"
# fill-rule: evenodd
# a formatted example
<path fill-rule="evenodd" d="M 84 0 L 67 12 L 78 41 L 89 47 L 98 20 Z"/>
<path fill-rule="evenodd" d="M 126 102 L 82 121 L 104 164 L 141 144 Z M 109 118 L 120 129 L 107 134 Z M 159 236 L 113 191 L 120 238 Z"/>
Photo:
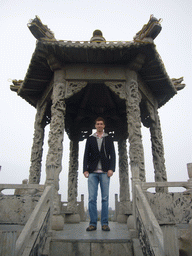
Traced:
<path fill-rule="evenodd" d="M 16 241 L 15 256 L 41 255 L 51 230 L 52 186 L 45 187 L 29 220 Z"/>

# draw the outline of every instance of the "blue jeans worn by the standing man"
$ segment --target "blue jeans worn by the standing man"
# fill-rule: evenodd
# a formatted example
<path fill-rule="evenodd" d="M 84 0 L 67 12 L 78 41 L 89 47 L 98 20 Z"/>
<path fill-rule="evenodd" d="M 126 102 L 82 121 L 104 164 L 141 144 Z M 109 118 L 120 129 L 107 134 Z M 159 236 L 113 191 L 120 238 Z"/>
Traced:
<path fill-rule="evenodd" d="M 109 183 L 107 173 L 90 173 L 88 178 L 90 225 L 97 226 L 98 185 L 101 187 L 101 225 L 108 225 Z"/>

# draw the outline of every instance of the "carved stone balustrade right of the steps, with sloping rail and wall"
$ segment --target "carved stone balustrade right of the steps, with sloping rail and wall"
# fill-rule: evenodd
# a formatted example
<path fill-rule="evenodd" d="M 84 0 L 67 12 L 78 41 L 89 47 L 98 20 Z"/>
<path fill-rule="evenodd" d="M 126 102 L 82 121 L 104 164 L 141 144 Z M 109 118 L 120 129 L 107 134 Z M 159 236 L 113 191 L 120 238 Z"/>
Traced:
<path fill-rule="evenodd" d="M 192 164 L 187 164 L 188 181 L 184 182 L 141 182 L 136 166 L 133 176 L 133 226 L 139 236 L 143 252 L 148 255 L 179 255 L 185 251 L 191 255 L 191 204 L 192 204 Z M 183 187 L 184 192 L 168 192 L 170 187 Z M 156 188 L 158 193 L 147 190 Z M 161 192 L 157 188 L 167 188 Z M 163 190 L 162 190 L 163 191 Z M 166 190 L 165 190 L 166 191 Z M 130 218 L 128 222 L 130 223 Z M 180 231 L 179 227 L 185 227 Z M 187 227 L 189 226 L 189 230 Z M 179 237 L 179 233 L 183 233 Z M 169 239 L 167 240 L 167 238 Z M 184 238 L 185 239 L 184 239 Z M 184 243 L 184 242 L 185 243 Z M 190 251 L 190 253 L 188 253 Z"/>

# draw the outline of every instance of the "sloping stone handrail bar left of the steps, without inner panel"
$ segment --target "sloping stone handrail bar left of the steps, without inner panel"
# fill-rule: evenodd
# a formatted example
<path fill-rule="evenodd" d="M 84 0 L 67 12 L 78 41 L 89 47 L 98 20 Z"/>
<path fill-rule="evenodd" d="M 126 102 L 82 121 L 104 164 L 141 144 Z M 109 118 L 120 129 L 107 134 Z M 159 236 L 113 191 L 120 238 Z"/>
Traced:
<path fill-rule="evenodd" d="M 41 220 L 41 214 L 46 213 L 49 210 L 51 210 L 52 205 L 52 186 L 45 187 L 45 190 L 37 203 L 35 209 L 33 210 L 29 220 L 27 221 L 25 227 L 23 228 L 20 236 L 18 237 L 16 241 L 16 256 L 22 255 L 25 247 L 28 245 L 31 235 L 37 231 L 38 229 L 41 229 L 41 223 L 39 223 L 39 220 Z M 45 215 L 45 214 L 44 214 Z M 50 213 L 49 218 L 52 216 L 52 210 Z M 41 220 L 41 222 L 43 222 Z"/>

